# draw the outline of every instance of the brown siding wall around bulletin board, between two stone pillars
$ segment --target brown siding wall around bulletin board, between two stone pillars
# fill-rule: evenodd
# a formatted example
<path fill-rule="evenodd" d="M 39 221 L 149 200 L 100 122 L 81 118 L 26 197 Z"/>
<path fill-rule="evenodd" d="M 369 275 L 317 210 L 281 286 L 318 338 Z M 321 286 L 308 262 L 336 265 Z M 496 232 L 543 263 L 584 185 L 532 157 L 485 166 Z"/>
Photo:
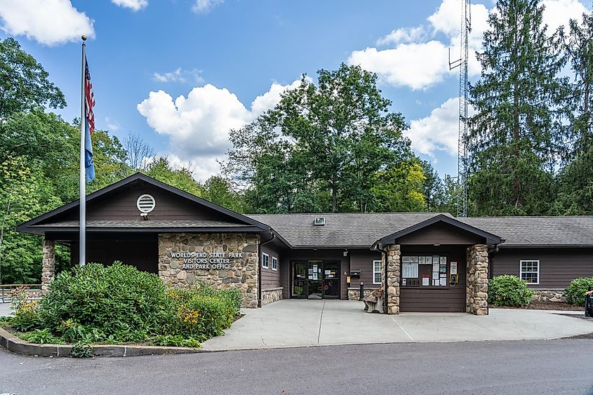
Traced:
<path fill-rule="evenodd" d="M 451 261 L 458 262 L 459 283 L 443 288 L 402 286 L 399 309 L 404 312 L 465 312 L 466 246 L 401 246 L 401 255 L 447 255 L 447 284 Z M 432 268 L 431 268 L 432 269 Z"/>

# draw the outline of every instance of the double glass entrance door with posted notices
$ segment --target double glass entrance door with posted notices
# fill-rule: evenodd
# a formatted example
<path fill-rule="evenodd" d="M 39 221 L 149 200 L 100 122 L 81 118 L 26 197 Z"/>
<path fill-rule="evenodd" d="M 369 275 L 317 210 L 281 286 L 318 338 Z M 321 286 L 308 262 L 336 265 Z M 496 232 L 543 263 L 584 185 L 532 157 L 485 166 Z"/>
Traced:
<path fill-rule="evenodd" d="M 340 261 L 294 261 L 292 275 L 292 297 L 302 299 L 340 298 Z"/>

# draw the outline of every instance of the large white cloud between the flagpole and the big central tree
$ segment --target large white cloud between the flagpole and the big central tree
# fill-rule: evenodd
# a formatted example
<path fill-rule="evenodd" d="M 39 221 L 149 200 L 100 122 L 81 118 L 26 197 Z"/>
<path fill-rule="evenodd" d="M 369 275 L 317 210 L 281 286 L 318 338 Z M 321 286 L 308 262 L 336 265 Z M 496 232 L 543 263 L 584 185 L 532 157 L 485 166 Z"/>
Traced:
<path fill-rule="evenodd" d="M 175 99 L 165 91 L 150 92 L 138 105 L 138 112 L 156 133 L 168 136 L 168 150 L 160 154 L 175 158 L 179 166 L 191 164 L 196 178 L 206 180 L 218 170 L 216 159 L 222 159 L 231 148 L 229 130 L 241 128 L 274 107 L 281 93 L 298 83 L 272 83 L 251 102 L 251 109 L 227 88 L 210 83 Z"/>

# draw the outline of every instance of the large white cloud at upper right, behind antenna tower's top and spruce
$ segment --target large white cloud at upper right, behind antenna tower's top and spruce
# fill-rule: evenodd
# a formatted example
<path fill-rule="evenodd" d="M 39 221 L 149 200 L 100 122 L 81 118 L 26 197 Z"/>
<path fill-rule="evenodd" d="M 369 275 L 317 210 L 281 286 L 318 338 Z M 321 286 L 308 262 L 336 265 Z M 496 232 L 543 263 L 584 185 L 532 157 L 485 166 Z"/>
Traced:
<path fill-rule="evenodd" d="M 571 18 L 580 20 L 582 13 L 587 12 L 583 0 L 542 0 L 542 4 L 550 33 L 560 25 L 568 25 Z M 481 72 L 475 53 L 482 50 L 484 32 L 488 29 L 488 13 L 492 11 L 488 6 L 471 6 L 469 76 Z M 460 58 L 460 13 L 460 0 L 442 0 L 427 18 L 428 24 L 401 27 L 377 40 L 378 46 L 392 45 L 392 48 L 353 51 L 348 62 L 377 73 L 382 83 L 413 90 L 431 88 L 448 76 L 458 76 L 457 71 L 449 71 L 448 48 L 451 48 L 451 60 Z"/>

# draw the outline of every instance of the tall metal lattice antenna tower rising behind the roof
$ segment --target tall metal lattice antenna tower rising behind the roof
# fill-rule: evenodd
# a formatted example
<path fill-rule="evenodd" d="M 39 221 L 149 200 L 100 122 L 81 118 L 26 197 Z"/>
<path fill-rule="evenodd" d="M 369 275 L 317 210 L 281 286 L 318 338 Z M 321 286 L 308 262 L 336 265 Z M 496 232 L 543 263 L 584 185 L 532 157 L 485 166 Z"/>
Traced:
<path fill-rule="evenodd" d="M 471 0 L 461 0 L 461 54 L 458 60 L 451 62 L 449 48 L 449 69 L 459 67 L 459 140 L 457 159 L 457 216 L 467 217 L 467 168 L 469 166 L 467 105 L 469 84 L 467 79 L 467 59 L 469 57 L 469 33 L 472 32 Z"/>

